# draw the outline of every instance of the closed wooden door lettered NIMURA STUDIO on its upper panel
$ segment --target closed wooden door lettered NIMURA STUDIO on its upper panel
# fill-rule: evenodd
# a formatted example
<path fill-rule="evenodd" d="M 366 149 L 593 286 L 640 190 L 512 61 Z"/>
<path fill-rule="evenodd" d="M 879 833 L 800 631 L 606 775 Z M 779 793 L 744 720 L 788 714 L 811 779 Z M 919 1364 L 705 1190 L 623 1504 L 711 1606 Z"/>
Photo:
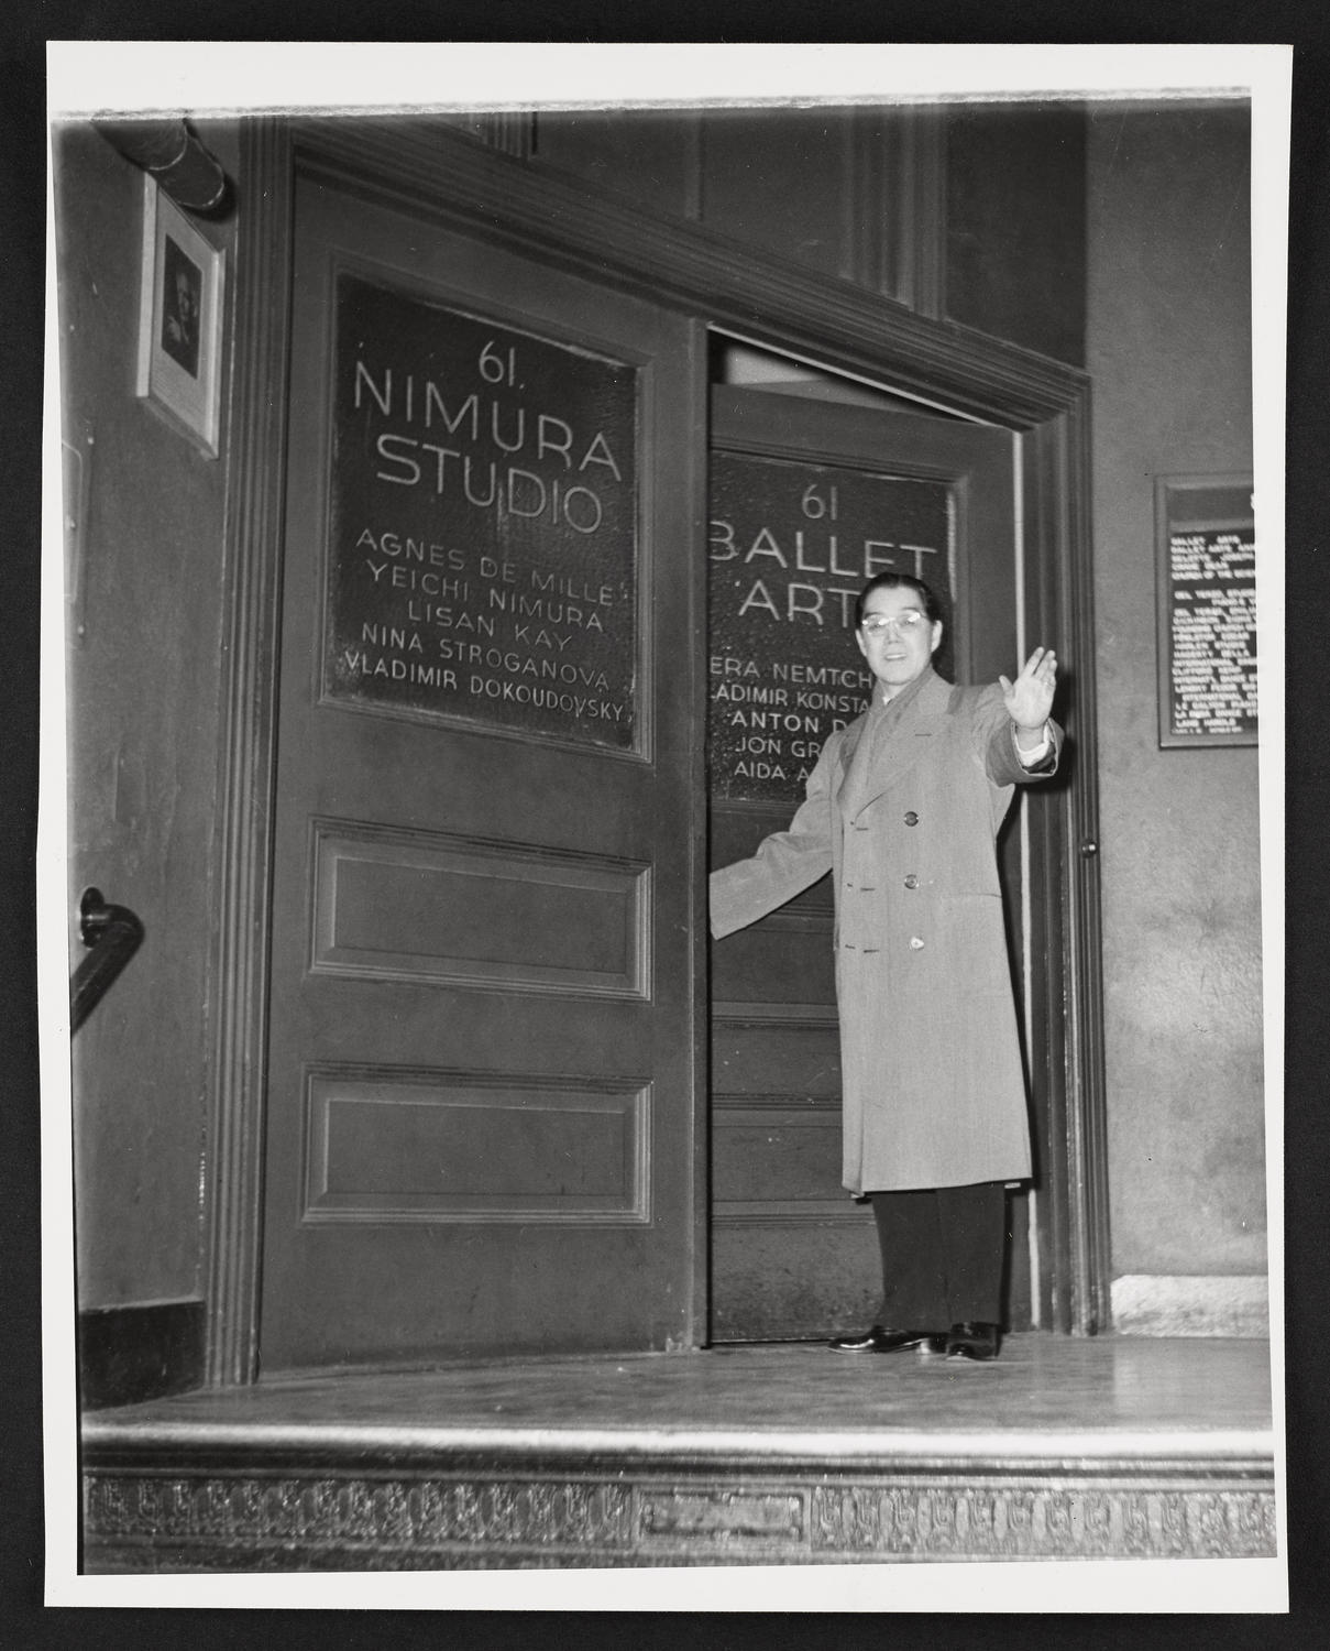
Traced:
<path fill-rule="evenodd" d="M 696 1339 L 695 330 L 297 180 L 261 1369 Z"/>

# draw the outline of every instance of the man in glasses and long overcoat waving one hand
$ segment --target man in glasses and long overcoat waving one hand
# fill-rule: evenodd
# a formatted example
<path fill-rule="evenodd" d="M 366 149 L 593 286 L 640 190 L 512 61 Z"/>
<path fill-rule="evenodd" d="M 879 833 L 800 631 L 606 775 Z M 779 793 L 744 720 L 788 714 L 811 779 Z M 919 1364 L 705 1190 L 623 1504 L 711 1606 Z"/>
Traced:
<path fill-rule="evenodd" d="M 881 573 L 855 604 L 873 703 L 837 730 L 789 829 L 711 875 L 711 933 L 746 928 L 835 878 L 843 1182 L 868 1197 L 883 1308 L 840 1352 L 993 1359 L 1007 1185 L 1030 1124 L 997 870 L 1015 786 L 1056 773 L 1058 662 L 952 687 L 932 669 L 936 596 Z"/>

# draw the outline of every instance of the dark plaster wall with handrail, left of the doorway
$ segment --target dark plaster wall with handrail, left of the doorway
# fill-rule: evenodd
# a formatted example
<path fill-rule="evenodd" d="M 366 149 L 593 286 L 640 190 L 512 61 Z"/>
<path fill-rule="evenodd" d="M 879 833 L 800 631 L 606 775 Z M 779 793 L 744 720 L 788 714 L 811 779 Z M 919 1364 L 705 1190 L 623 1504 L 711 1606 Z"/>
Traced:
<path fill-rule="evenodd" d="M 145 926 L 73 1048 L 79 1308 L 96 1309 L 200 1289 L 224 459 L 135 396 L 144 173 L 71 125 L 54 188 L 64 439 L 87 469 L 66 652 L 71 972 L 87 885 Z"/>

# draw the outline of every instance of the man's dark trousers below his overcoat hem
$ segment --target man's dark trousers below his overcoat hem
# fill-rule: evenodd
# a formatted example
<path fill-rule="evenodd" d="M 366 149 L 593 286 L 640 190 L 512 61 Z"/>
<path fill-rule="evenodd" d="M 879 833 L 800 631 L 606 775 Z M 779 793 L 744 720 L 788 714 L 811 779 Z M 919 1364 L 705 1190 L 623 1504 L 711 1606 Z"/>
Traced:
<path fill-rule="evenodd" d="M 1002 1322 L 1007 1189 L 1000 1180 L 870 1197 L 883 1253 L 881 1324 L 944 1331 Z"/>

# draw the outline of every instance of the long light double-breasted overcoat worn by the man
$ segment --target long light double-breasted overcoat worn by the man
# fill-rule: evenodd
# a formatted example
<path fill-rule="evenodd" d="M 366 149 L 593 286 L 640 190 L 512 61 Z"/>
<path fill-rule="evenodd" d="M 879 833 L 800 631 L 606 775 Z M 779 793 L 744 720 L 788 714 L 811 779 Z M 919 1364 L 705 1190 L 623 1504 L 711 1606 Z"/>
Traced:
<path fill-rule="evenodd" d="M 716 938 L 835 878 L 853 1194 L 1030 1176 L 995 844 L 1013 788 L 1056 771 L 1061 730 L 1049 723 L 1053 748 L 1026 769 L 997 685 L 955 688 L 929 669 L 901 700 L 837 730 L 789 830 L 711 875 Z"/>

